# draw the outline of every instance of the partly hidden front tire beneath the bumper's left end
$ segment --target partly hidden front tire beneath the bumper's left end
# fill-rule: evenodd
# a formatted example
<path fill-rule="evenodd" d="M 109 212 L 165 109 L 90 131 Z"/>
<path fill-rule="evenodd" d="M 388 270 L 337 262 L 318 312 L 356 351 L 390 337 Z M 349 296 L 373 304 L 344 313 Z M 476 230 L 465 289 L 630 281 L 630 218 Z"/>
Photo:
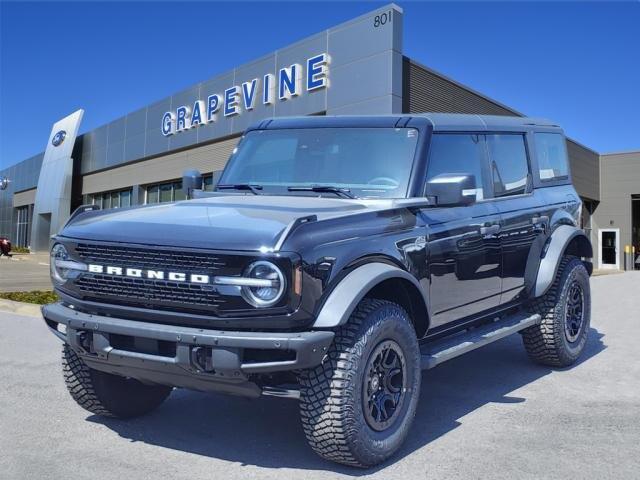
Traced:
<path fill-rule="evenodd" d="M 62 348 L 62 371 L 76 403 L 104 417 L 144 415 L 158 408 L 172 390 L 164 385 L 145 385 L 132 378 L 94 370 L 67 344 Z"/>

